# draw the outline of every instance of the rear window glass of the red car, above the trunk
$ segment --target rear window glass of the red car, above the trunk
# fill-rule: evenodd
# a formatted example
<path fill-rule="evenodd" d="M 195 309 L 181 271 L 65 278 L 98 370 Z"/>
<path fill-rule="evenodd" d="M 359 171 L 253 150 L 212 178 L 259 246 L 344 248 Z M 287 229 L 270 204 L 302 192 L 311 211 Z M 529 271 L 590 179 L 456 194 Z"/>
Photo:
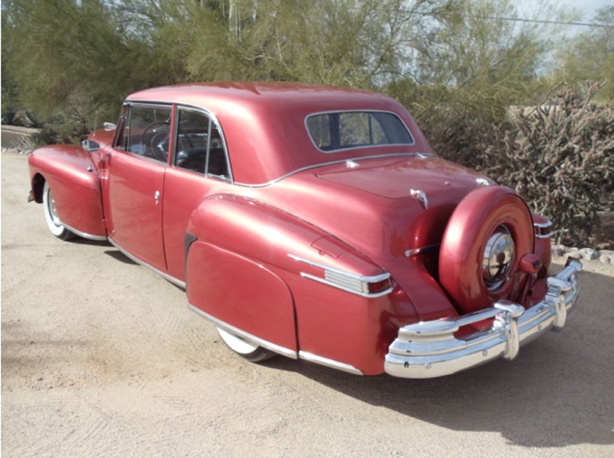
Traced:
<path fill-rule="evenodd" d="M 307 117 L 307 131 L 325 153 L 387 144 L 413 144 L 405 124 L 392 113 L 340 111 Z"/>

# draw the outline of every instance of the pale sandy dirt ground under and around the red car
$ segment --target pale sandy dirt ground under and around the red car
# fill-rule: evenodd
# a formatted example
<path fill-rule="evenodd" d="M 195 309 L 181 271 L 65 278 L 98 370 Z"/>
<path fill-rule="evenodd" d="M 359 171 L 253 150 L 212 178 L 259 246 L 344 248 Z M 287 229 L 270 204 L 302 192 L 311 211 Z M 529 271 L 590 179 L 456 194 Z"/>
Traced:
<path fill-rule="evenodd" d="M 565 330 L 509 363 L 434 380 L 255 365 L 181 289 L 51 236 L 26 156 L 1 160 L 4 457 L 614 456 L 614 265 L 585 263 Z"/>

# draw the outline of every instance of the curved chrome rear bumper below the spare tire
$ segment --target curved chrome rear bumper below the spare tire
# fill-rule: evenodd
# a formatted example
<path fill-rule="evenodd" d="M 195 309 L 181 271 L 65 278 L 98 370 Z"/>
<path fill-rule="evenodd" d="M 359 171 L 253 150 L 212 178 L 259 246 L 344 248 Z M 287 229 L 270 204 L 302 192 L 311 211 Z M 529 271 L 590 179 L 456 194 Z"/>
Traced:
<path fill-rule="evenodd" d="M 393 376 L 429 379 L 454 374 L 492 359 L 514 359 L 520 345 L 549 329 L 564 327 L 579 294 L 576 272 L 582 263 L 569 259 L 556 276 L 548 277 L 544 300 L 530 309 L 509 300 L 453 319 L 421 321 L 399 329 L 388 348 L 384 368 Z M 462 326 L 495 318 L 488 330 L 457 338 Z"/>

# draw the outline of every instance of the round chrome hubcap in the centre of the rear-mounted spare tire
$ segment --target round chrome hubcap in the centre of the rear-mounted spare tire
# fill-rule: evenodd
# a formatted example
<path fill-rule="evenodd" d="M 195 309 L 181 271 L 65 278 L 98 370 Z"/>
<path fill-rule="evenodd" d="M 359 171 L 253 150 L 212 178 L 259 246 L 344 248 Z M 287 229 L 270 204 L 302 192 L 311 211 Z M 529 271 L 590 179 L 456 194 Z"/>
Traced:
<path fill-rule="evenodd" d="M 514 262 L 514 239 L 505 226 L 499 226 L 486 242 L 482 274 L 488 289 L 497 289 L 506 280 Z"/>

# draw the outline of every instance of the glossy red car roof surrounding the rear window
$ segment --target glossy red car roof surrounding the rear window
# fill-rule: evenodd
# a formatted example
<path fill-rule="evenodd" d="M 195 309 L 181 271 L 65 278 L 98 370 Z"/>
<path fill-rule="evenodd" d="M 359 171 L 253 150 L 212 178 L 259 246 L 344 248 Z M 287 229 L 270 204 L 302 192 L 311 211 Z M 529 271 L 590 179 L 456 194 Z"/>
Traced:
<path fill-rule="evenodd" d="M 368 155 L 430 152 L 413 118 L 391 97 L 353 88 L 287 82 L 188 83 L 139 90 L 128 102 L 162 102 L 204 108 L 217 118 L 233 178 L 264 184 L 297 169 Z M 323 153 L 311 142 L 305 117 L 344 110 L 390 111 L 410 129 L 413 146 L 374 146 Z"/>

